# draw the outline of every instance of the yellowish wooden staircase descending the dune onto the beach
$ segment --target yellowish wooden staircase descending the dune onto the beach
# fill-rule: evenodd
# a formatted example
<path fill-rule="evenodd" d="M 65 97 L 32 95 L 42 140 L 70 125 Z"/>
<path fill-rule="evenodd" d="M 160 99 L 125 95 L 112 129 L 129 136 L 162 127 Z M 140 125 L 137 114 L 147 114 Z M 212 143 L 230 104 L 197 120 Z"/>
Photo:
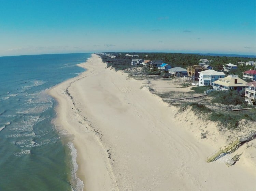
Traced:
<path fill-rule="evenodd" d="M 255 138 L 255 136 L 256 136 L 256 130 L 252 130 L 244 136 L 237 137 L 237 140 L 232 141 L 232 143 L 230 143 L 229 145 L 227 145 L 225 147 L 221 147 L 218 150 L 216 150 L 215 152 L 213 152 L 207 158 L 207 162 L 215 161 L 215 160 L 223 157 L 227 152 L 232 153 L 232 152 L 236 151 L 241 146 L 241 143 L 251 141 L 252 139 Z"/>

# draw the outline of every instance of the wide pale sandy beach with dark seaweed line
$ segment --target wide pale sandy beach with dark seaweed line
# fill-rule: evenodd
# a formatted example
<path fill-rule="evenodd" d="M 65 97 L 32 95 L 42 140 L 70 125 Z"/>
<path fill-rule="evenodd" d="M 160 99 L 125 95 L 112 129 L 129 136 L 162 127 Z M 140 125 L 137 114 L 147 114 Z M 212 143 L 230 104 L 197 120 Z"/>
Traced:
<path fill-rule="evenodd" d="M 85 191 L 256 190 L 254 162 L 206 162 L 225 141 L 202 141 L 197 128 L 205 124 L 191 112 L 177 116 L 140 89 L 145 81 L 126 80 L 95 54 L 80 67 L 87 71 L 49 94 L 58 101 L 56 124 L 73 138 Z"/>

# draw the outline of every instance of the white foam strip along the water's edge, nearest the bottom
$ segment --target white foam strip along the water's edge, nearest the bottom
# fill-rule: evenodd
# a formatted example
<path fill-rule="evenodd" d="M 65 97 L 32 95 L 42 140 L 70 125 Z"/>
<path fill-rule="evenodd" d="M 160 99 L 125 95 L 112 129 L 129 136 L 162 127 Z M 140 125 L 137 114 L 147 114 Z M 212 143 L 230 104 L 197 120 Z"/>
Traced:
<path fill-rule="evenodd" d="M 76 171 L 78 170 L 78 165 L 76 163 L 76 157 L 77 157 L 76 149 L 75 149 L 73 143 L 71 143 L 71 142 L 69 142 L 67 145 L 71 150 L 71 158 L 72 158 L 72 165 L 73 165 L 73 169 L 71 172 L 72 173 L 72 181 L 71 181 L 72 190 L 73 191 L 82 191 L 84 188 L 84 183 L 76 176 Z"/>

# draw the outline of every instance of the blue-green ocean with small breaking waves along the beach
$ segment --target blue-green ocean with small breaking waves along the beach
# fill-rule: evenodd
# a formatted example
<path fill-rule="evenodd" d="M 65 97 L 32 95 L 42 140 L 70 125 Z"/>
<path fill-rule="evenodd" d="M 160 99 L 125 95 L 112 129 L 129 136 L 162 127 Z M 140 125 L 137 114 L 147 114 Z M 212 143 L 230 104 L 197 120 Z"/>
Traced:
<path fill-rule="evenodd" d="M 82 190 L 76 150 L 54 125 L 46 90 L 85 71 L 91 54 L 0 57 L 0 190 Z"/>

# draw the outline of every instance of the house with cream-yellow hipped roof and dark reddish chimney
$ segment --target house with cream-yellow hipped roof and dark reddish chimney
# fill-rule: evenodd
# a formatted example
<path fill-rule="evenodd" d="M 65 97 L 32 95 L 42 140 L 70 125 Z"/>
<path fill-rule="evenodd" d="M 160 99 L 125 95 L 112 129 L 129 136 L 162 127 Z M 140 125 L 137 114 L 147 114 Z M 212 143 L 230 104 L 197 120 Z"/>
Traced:
<path fill-rule="evenodd" d="M 213 89 L 215 90 L 237 90 L 240 91 L 245 88 L 246 82 L 238 77 L 238 75 L 228 75 L 224 78 L 219 78 L 213 82 Z"/>

